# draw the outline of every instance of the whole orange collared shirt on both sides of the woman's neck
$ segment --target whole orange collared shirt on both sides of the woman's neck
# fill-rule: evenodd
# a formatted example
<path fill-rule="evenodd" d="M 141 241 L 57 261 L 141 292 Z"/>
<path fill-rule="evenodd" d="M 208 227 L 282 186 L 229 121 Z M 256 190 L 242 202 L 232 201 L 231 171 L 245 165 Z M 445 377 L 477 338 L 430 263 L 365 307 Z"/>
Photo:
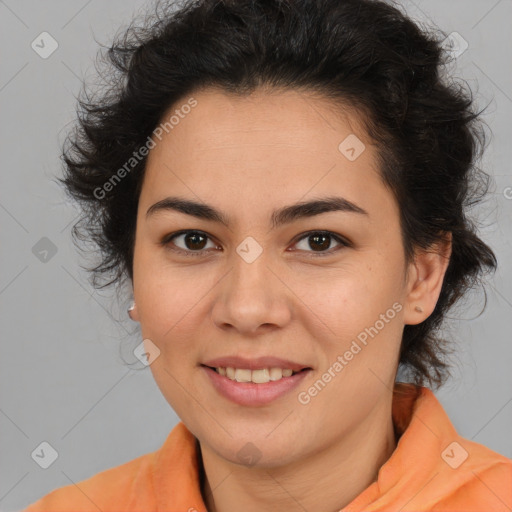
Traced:
<path fill-rule="evenodd" d="M 342 512 L 512 510 L 512 460 L 460 437 L 432 391 L 397 383 L 400 439 Z M 205 512 L 195 437 L 180 422 L 160 449 L 56 489 L 23 512 Z"/>

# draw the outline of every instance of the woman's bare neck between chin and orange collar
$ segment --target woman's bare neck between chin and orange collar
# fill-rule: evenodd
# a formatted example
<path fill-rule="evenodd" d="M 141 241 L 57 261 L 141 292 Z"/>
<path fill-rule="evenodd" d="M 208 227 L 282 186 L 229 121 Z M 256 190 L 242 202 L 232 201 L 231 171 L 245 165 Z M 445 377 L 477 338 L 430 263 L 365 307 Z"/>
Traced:
<path fill-rule="evenodd" d="M 327 449 L 283 466 L 248 468 L 202 446 L 203 499 L 209 512 L 338 511 L 377 479 L 395 448 L 391 403 Z"/>

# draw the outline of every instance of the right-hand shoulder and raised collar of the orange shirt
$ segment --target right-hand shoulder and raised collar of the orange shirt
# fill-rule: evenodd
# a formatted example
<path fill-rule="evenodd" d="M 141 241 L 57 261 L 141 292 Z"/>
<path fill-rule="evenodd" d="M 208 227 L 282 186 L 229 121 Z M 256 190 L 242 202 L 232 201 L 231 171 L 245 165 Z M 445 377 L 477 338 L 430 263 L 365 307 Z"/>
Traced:
<path fill-rule="evenodd" d="M 512 510 L 512 460 L 459 435 L 431 390 L 396 385 L 393 422 L 401 437 L 379 472 L 379 498 L 399 494 L 403 512 Z"/>

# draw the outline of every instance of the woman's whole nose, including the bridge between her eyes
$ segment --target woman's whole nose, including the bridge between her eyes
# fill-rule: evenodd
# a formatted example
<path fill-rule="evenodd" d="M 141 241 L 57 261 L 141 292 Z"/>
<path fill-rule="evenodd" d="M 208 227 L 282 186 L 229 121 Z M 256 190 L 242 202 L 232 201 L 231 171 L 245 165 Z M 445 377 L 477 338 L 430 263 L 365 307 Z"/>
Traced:
<path fill-rule="evenodd" d="M 253 333 L 261 325 L 282 326 L 289 320 L 285 287 L 269 268 L 269 254 L 256 244 L 254 239 L 245 240 L 233 254 L 231 271 L 222 280 L 212 312 L 219 327 L 231 325 Z"/>

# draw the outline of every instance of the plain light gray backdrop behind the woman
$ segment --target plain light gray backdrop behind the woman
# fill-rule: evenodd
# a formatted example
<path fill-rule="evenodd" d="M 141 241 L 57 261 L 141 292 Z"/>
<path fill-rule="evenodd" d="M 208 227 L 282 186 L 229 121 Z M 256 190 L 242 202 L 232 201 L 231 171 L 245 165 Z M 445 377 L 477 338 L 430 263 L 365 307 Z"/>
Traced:
<path fill-rule="evenodd" d="M 490 103 L 484 119 L 494 135 L 484 166 L 495 186 L 475 213 L 500 268 L 484 314 L 476 318 L 479 293 L 452 315 L 447 333 L 457 340 L 457 364 L 437 396 L 464 437 L 512 457 L 512 1 L 402 5 L 415 20 L 463 36 L 469 48 L 453 73 L 468 81 L 480 106 Z M 94 291 L 81 270 L 70 236 L 77 211 L 52 181 L 80 80 L 94 72 L 95 39 L 108 44 L 143 8 L 137 0 L 0 1 L 3 511 L 158 449 L 178 421 L 149 368 L 130 353 L 140 340 L 125 320 L 126 304 Z M 31 48 L 43 31 L 59 45 L 47 59 Z M 43 237 L 57 251 L 46 261 Z M 125 361 L 137 364 L 123 363 L 121 345 Z M 58 452 L 48 469 L 31 457 L 43 441 Z"/>

